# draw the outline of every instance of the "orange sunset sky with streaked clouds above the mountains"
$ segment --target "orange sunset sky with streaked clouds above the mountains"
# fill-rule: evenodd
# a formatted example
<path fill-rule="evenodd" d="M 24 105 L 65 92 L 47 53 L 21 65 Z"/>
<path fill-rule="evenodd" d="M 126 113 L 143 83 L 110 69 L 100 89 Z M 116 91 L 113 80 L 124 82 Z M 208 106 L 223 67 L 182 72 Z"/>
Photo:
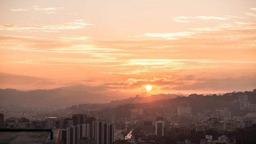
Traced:
<path fill-rule="evenodd" d="M 0 88 L 256 88 L 255 0 L 0 0 Z"/>

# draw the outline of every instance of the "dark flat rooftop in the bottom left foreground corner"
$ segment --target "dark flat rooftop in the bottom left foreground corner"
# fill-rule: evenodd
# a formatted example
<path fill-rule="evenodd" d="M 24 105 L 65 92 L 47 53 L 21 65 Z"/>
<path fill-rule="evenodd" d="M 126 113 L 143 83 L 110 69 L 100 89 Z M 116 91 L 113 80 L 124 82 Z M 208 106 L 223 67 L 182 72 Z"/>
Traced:
<path fill-rule="evenodd" d="M 52 136 L 51 136 L 52 131 Z M 59 129 L 0 128 L 0 144 L 61 144 Z"/>

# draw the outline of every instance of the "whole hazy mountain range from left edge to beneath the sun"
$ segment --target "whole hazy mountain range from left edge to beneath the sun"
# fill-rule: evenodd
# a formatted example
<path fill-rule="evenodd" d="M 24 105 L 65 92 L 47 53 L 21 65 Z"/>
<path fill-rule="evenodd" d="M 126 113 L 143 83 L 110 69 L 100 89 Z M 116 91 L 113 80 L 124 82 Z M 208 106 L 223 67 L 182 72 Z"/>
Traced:
<path fill-rule="evenodd" d="M 31 107 L 65 107 L 65 105 L 72 103 L 110 103 L 113 105 L 120 105 L 128 103 L 151 102 L 154 100 L 184 96 L 177 94 L 157 94 L 148 96 L 147 92 L 141 92 L 138 94 L 139 97 L 136 98 L 136 94 L 134 94 L 134 92 L 111 91 L 105 88 L 86 85 L 29 91 L 19 91 L 16 89 L 7 88 L 0 89 L 0 105 L 29 104 Z"/>

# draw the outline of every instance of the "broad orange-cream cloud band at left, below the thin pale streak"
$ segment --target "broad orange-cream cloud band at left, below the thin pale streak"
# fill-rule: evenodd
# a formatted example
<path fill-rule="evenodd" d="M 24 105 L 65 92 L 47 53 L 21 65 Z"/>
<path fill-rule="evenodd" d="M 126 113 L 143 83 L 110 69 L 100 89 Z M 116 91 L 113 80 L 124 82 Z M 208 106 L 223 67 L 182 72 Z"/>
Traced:
<path fill-rule="evenodd" d="M 19 43 L 13 43 L 13 41 L 19 41 Z M 129 53 L 122 52 L 121 49 L 95 46 L 86 36 L 72 37 L 72 35 L 61 35 L 57 40 L 28 36 L 0 36 L 0 49 L 79 53 L 87 54 L 91 57 L 132 56 Z"/>

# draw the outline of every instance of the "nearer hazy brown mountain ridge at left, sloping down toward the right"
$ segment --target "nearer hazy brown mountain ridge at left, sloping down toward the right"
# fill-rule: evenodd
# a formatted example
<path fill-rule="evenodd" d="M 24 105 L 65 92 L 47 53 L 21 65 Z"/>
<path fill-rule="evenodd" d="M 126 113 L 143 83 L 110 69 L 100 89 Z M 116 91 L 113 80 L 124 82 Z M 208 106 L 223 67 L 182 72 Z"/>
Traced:
<path fill-rule="evenodd" d="M 106 103 L 116 97 L 71 91 L 63 89 L 18 91 L 16 89 L 0 89 L 0 104 L 29 104 L 38 107 L 61 105 L 68 103 Z"/>

